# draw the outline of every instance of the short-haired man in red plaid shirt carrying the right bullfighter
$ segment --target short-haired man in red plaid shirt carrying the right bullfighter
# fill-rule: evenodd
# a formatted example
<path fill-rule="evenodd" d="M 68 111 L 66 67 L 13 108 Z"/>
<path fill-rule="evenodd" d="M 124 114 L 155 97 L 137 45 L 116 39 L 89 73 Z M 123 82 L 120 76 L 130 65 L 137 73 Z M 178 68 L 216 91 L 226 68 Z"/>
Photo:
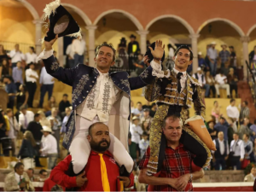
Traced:
<path fill-rule="evenodd" d="M 148 184 L 148 191 L 193 191 L 192 180 L 204 176 L 201 169 L 192 172 L 191 162 L 194 155 L 179 143 L 182 137 L 182 121 L 172 114 L 165 118 L 163 124 L 163 135 L 166 137 L 165 159 L 160 172 L 154 176 L 147 175 L 147 166 L 150 156 L 150 147 L 143 156 L 140 163 L 139 182 Z"/>

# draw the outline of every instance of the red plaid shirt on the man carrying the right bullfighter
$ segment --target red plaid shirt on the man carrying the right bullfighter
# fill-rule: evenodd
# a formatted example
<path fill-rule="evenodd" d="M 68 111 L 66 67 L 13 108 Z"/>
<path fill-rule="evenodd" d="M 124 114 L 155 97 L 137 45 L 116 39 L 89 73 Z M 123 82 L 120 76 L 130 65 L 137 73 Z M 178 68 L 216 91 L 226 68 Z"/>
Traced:
<path fill-rule="evenodd" d="M 143 156 L 143 160 L 140 162 L 140 169 L 147 168 L 149 157 L 150 147 L 148 146 L 148 149 Z M 164 163 L 162 170 L 157 173 L 160 173 L 158 177 L 177 178 L 184 174 L 191 173 L 191 162 L 193 157 L 193 154 L 190 154 L 190 152 L 183 147 L 182 143 L 175 149 L 166 147 Z M 177 191 L 177 189 L 172 188 L 170 185 L 148 185 L 148 191 Z M 190 181 L 187 184 L 185 191 L 193 191 L 193 186 Z"/>

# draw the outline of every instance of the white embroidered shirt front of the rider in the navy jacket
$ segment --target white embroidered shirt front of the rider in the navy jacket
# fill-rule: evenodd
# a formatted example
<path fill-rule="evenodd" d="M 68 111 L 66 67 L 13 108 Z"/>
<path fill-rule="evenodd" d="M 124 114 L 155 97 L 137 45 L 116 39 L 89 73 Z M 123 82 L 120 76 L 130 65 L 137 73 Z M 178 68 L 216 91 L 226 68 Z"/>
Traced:
<path fill-rule="evenodd" d="M 96 84 L 77 108 L 77 114 L 89 120 L 97 115 L 101 122 L 108 122 L 113 103 L 119 99 L 122 90 L 113 84 L 108 73 L 99 73 Z"/>

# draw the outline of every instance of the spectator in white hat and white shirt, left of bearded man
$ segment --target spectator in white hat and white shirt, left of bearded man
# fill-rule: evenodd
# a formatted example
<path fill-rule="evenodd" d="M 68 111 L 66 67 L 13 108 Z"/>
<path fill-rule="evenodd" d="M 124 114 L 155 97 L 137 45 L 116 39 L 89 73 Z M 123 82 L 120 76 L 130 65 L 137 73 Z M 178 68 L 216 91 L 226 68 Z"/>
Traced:
<path fill-rule="evenodd" d="M 48 169 L 52 169 L 55 166 L 58 150 L 57 141 L 55 137 L 51 135 L 52 131 L 48 126 L 43 126 L 44 136 L 42 137 L 41 143 L 43 148 L 40 149 L 41 154 L 46 155 L 48 159 Z"/>

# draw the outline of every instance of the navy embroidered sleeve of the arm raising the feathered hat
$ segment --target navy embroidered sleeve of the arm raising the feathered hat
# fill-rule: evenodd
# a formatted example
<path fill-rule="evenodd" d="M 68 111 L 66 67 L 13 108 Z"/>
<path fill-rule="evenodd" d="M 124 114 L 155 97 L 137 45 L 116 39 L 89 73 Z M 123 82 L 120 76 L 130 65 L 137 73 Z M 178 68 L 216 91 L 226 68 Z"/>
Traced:
<path fill-rule="evenodd" d="M 64 84 L 68 84 L 70 86 L 73 85 L 73 80 L 75 79 L 78 66 L 68 69 L 60 67 L 58 62 L 55 61 L 55 57 L 53 55 L 43 61 L 47 73 L 55 79 L 62 81 Z"/>

